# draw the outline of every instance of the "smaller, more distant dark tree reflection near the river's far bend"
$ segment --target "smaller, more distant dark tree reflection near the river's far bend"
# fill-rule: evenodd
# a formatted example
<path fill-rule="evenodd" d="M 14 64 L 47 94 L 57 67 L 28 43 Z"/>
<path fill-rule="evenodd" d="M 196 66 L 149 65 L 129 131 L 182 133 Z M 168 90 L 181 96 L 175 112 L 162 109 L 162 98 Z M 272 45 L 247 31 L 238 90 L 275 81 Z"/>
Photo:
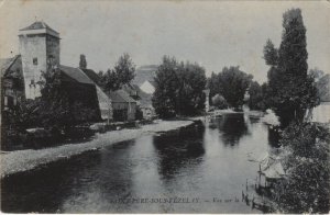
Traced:
<path fill-rule="evenodd" d="M 243 135 L 248 134 L 243 114 L 224 114 L 218 125 L 226 145 L 234 146 Z"/>

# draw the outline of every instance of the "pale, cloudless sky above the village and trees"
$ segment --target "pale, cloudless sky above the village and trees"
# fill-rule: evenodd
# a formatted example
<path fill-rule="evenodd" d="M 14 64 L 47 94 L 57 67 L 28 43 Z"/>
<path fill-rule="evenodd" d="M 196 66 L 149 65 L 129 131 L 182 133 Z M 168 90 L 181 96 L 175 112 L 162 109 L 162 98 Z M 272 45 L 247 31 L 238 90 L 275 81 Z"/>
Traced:
<path fill-rule="evenodd" d="M 263 47 L 279 46 L 283 13 L 300 8 L 309 68 L 330 72 L 330 1 L 0 0 L 0 58 L 19 54 L 19 30 L 44 21 L 61 34 L 61 64 L 113 68 L 123 53 L 139 67 L 164 55 L 196 61 L 210 76 L 240 66 L 267 80 Z"/>

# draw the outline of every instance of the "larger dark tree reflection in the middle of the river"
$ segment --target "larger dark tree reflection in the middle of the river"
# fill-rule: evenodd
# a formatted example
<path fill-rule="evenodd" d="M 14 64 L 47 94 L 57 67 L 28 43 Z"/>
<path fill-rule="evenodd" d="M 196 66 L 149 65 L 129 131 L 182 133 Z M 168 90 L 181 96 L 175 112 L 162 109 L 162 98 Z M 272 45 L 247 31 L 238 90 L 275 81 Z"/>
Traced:
<path fill-rule="evenodd" d="M 154 138 L 160 156 L 158 172 L 170 179 L 187 165 L 198 165 L 196 158 L 205 154 L 202 145 L 204 128 L 189 127 L 166 133 Z"/>

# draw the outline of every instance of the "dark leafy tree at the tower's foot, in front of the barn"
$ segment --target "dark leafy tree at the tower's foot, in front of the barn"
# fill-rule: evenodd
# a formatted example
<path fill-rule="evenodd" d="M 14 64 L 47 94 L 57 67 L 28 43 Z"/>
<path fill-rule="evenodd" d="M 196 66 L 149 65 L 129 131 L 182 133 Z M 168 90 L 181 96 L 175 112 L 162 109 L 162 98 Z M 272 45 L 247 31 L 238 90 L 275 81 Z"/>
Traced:
<path fill-rule="evenodd" d="M 63 82 L 61 70 L 48 69 L 43 72 L 43 78 L 42 97 L 37 108 L 42 126 L 66 129 L 99 118 L 98 111 L 92 105 L 70 94 L 70 83 Z M 88 102 L 95 104 L 95 101 Z"/>

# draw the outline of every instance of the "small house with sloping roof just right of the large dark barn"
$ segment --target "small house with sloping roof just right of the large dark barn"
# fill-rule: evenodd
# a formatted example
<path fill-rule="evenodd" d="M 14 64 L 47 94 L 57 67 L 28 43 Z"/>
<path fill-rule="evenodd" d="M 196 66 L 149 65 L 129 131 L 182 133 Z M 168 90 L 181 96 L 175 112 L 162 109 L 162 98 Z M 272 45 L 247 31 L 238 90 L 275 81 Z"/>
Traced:
<path fill-rule="evenodd" d="M 113 121 L 134 121 L 136 114 L 136 101 L 124 90 L 109 93 L 113 109 Z"/>

